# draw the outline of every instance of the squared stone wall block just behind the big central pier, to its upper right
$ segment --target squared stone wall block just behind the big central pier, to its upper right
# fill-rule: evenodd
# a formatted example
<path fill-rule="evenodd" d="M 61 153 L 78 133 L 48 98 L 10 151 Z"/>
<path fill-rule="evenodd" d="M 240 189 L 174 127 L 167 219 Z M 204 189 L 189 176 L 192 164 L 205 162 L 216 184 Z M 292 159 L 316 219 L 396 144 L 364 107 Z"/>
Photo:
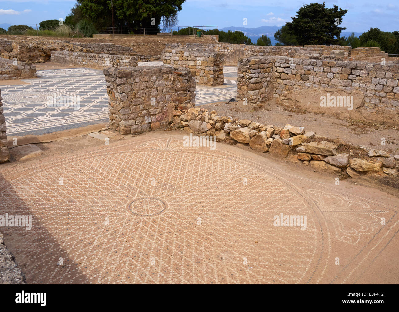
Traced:
<path fill-rule="evenodd" d="M 166 65 L 175 69 L 188 68 L 199 85 L 223 85 L 223 54 L 196 50 L 164 49 L 161 56 Z"/>

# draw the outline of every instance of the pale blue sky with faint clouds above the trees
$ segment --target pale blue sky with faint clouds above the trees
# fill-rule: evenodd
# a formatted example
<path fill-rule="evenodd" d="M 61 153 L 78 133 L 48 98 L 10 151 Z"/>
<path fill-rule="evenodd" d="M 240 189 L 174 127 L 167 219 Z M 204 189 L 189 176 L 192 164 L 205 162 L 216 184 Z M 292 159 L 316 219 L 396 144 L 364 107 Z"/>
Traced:
<path fill-rule="evenodd" d="M 218 25 L 244 27 L 282 26 L 307 2 L 296 0 L 187 0 L 179 12 L 180 26 Z M 318 1 L 320 2 L 320 1 Z M 322 3 L 322 1 L 320 2 Z M 0 24 L 39 24 L 43 20 L 65 18 L 74 6 L 74 0 L 0 0 Z M 399 30 L 399 3 L 397 0 L 373 2 L 369 0 L 326 1 L 326 6 L 336 4 L 348 9 L 341 24 L 346 31 L 363 32 L 370 27 L 383 31 Z"/>

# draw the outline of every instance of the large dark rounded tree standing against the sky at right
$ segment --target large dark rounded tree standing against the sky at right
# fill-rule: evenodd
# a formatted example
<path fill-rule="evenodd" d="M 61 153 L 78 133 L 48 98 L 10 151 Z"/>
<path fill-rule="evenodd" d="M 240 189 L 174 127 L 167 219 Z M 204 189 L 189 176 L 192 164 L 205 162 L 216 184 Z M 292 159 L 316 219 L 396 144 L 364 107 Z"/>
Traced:
<path fill-rule="evenodd" d="M 311 3 L 304 5 L 296 12 L 292 22 L 286 23 L 291 34 L 296 36 L 299 45 L 332 45 L 339 43 L 342 30 L 339 27 L 348 10 L 342 10 L 334 5 L 326 8 L 323 4 Z"/>

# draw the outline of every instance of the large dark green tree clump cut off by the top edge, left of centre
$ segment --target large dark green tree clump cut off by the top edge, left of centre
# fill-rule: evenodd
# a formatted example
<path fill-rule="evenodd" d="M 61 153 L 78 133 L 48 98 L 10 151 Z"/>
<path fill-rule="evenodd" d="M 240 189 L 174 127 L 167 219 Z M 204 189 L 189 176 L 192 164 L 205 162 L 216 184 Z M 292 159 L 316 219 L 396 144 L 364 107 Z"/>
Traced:
<path fill-rule="evenodd" d="M 186 0 L 114 0 L 115 27 L 127 27 L 142 32 L 147 28 L 148 34 L 159 32 L 161 22 L 170 27 L 177 21 L 177 13 L 182 10 Z M 77 0 L 75 12 L 81 12 L 82 18 L 93 22 L 96 28 L 112 27 L 111 1 L 107 0 Z M 71 18 L 73 20 L 72 12 Z"/>

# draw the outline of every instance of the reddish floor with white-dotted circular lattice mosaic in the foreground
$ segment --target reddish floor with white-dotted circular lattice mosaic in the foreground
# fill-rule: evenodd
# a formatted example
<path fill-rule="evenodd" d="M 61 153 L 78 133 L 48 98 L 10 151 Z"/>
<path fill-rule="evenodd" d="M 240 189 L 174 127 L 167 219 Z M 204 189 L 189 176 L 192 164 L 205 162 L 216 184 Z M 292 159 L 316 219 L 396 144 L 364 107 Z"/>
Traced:
<path fill-rule="evenodd" d="M 0 175 L 0 214 L 32 215 L 4 241 L 34 284 L 397 283 L 397 199 L 282 166 L 174 134 L 33 160 Z"/>

